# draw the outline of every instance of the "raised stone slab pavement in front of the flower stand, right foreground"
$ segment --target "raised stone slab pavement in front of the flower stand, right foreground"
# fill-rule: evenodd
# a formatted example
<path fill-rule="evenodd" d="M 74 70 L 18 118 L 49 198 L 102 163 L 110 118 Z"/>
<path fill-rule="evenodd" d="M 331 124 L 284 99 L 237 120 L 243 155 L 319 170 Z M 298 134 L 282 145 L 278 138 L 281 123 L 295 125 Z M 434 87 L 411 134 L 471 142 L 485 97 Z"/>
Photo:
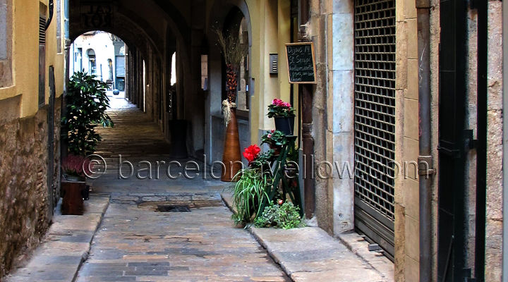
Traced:
<path fill-rule="evenodd" d="M 390 281 L 321 228 L 250 231 L 293 281 Z"/>

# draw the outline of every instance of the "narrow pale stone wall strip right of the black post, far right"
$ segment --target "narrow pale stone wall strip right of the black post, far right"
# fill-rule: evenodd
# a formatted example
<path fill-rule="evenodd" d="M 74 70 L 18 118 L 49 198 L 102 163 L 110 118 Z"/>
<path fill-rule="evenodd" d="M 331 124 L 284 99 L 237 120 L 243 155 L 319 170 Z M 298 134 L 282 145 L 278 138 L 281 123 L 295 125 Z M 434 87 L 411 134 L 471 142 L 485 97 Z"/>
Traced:
<path fill-rule="evenodd" d="M 502 2 L 488 1 L 485 281 L 502 281 Z"/>

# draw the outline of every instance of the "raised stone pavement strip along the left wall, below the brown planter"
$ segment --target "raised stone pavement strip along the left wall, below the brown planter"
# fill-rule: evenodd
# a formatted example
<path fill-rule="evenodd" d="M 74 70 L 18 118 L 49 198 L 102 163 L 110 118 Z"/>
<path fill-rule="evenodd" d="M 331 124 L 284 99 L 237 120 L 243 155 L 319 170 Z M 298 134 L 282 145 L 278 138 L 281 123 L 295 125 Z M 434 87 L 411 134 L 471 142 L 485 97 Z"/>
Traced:
<path fill-rule="evenodd" d="M 108 205 L 109 197 L 92 194 L 90 200 L 85 201 L 83 216 L 64 216 L 58 206 L 42 243 L 28 262 L 14 269 L 4 281 L 74 281 L 88 257 L 92 239 Z"/>

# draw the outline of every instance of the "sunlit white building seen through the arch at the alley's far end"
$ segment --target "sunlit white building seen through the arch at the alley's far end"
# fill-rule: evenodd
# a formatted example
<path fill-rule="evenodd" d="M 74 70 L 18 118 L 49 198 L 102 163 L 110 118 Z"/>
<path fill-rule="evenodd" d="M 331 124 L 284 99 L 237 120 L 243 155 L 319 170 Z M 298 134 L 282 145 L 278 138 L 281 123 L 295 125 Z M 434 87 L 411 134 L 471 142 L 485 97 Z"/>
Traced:
<path fill-rule="evenodd" d="M 107 82 L 110 90 L 125 89 L 126 44 L 119 37 L 103 31 L 86 32 L 74 40 L 71 52 L 70 76 L 85 71 Z"/>

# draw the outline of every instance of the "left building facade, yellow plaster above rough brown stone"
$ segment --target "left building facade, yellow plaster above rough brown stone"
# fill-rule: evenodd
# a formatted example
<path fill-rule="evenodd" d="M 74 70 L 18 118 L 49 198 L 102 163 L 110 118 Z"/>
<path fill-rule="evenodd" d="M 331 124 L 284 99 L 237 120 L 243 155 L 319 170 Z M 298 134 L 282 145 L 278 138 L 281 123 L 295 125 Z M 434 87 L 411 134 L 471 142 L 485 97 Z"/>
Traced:
<path fill-rule="evenodd" d="M 0 274 L 37 246 L 60 197 L 63 11 L 0 2 Z"/>

